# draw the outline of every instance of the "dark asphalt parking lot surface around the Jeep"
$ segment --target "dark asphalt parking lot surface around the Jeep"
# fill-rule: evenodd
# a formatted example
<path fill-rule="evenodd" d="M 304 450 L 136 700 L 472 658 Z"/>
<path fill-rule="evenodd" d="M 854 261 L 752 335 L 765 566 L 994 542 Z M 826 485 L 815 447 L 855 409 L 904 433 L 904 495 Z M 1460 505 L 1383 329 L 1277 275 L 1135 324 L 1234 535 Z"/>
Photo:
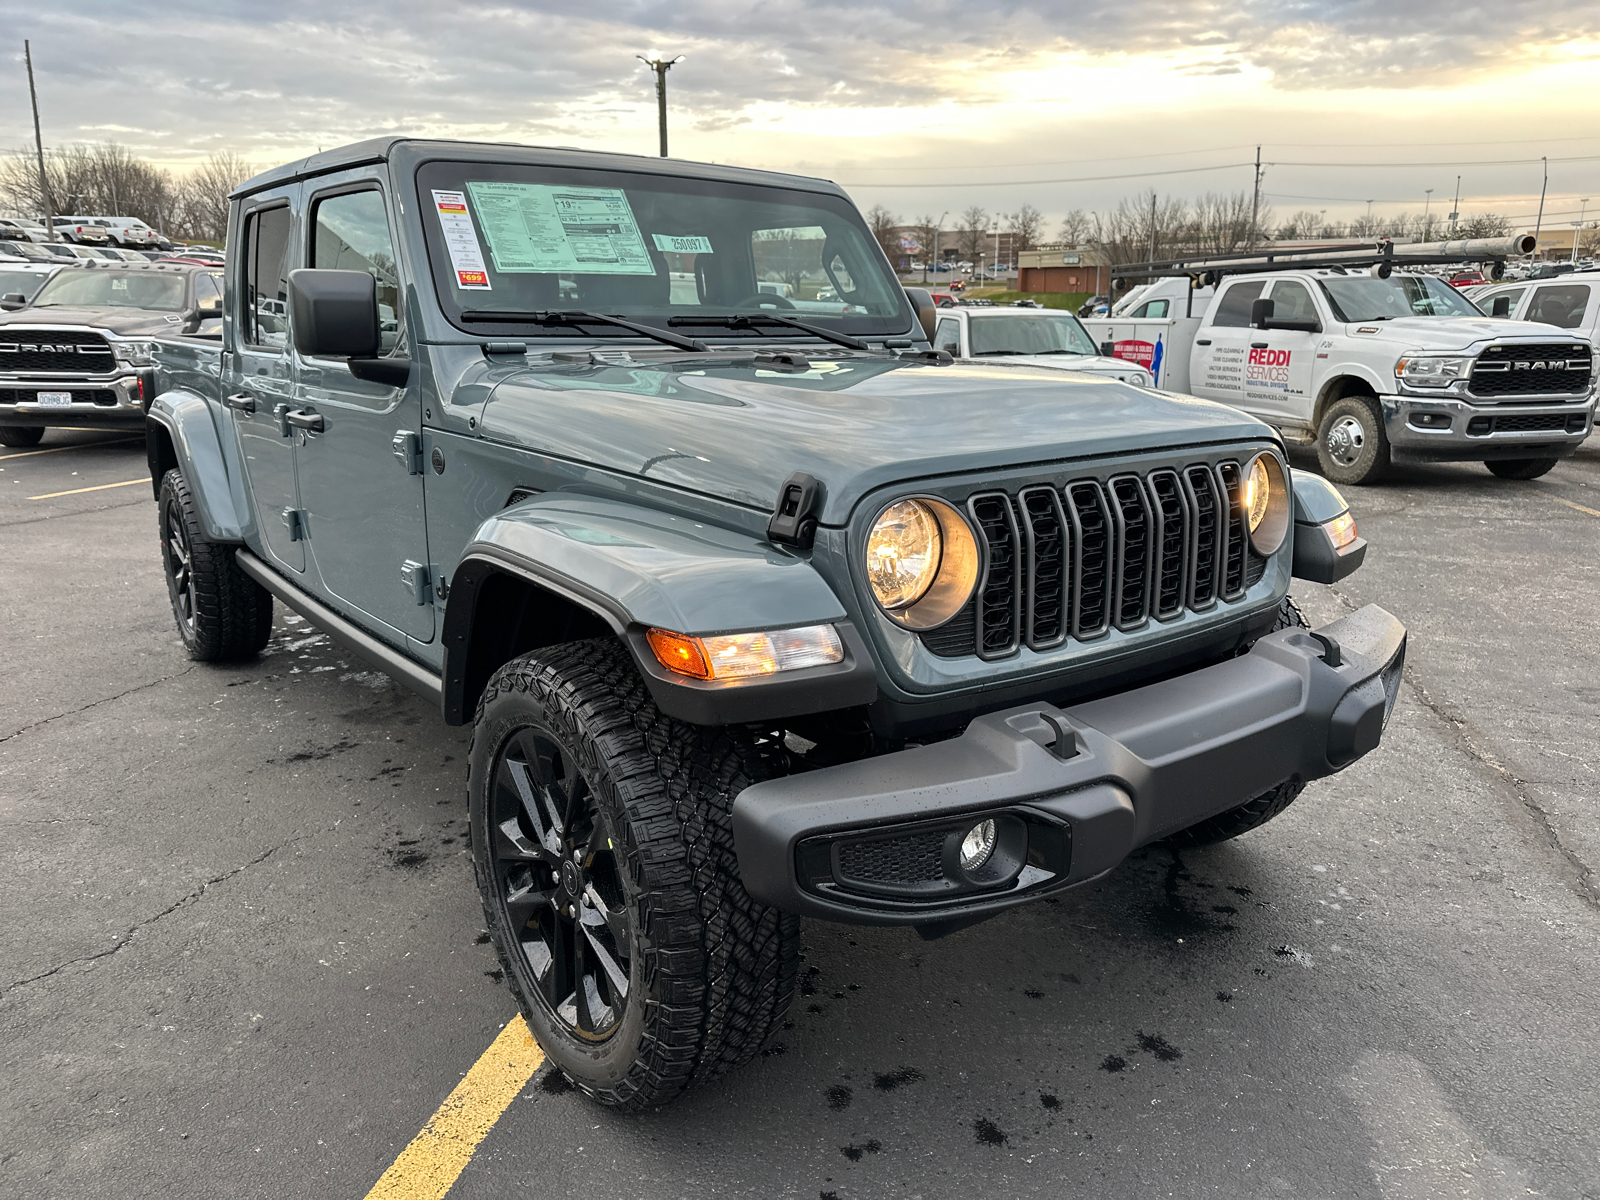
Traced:
<path fill-rule="evenodd" d="M 544 1069 L 450 1195 L 1600 1197 L 1600 445 L 1349 496 L 1296 595 L 1410 626 L 1378 754 L 938 942 L 810 923 L 766 1058 Z M 190 664 L 138 440 L 0 450 L 0 1195 L 366 1195 L 515 1016 L 467 733 L 282 606 Z"/>

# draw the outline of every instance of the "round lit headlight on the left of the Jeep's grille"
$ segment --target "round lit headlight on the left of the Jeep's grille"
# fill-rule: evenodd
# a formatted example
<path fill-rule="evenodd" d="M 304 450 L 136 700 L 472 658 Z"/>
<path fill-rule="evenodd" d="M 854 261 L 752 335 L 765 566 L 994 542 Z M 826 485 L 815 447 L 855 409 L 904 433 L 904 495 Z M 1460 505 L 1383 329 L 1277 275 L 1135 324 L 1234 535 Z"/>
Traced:
<path fill-rule="evenodd" d="M 933 629 L 955 616 L 978 586 L 978 541 L 941 499 L 890 504 L 872 522 L 867 584 L 878 606 L 907 629 Z"/>

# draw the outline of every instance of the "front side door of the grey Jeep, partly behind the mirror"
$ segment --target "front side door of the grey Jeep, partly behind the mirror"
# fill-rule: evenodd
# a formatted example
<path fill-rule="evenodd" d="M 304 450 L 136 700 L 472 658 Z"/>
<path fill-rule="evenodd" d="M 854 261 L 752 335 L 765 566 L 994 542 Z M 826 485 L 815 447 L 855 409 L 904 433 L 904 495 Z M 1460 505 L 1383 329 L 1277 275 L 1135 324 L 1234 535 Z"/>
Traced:
<path fill-rule="evenodd" d="M 307 266 L 376 277 L 379 354 L 403 358 L 410 331 L 395 242 L 376 174 L 346 171 L 307 194 Z M 298 357 L 296 370 L 298 413 L 322 418 L 298 451 L 320 590 L 341 610 L 429 642 L 434 603 L 422 514 L 421 386 L 357 379 L 338 358 Z"/>

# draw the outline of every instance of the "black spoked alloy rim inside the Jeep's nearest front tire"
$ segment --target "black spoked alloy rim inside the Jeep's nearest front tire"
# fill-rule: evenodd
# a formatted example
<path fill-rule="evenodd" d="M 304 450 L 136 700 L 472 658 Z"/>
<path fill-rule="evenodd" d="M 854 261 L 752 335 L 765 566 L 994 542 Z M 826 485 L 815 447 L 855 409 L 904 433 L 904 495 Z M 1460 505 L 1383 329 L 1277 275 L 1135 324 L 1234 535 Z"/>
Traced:
<path fill-rule="evenodd" d="M 525 994 L 570 1035 L 606 1040 L 632 990 L 634 928 L 614 832 L 560 736 L 528 726 L 506 741 L 490 822 Z"/>

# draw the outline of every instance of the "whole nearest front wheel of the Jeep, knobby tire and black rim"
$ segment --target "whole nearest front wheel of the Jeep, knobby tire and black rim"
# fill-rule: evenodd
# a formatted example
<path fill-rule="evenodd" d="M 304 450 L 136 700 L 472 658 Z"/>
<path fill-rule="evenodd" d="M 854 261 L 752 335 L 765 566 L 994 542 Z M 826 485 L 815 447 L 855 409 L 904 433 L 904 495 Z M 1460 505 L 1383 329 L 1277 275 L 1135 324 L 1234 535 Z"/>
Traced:
<path fill-rule="evenodd" d="M 666 717 L 627 648 L 507 662 L 467 766 L 490 936 L 528 1027 L 592 1099 L 643 1109 L 747 1062 L 794 995 L 800 918 L 739 880 L 749 739 Z"/>

